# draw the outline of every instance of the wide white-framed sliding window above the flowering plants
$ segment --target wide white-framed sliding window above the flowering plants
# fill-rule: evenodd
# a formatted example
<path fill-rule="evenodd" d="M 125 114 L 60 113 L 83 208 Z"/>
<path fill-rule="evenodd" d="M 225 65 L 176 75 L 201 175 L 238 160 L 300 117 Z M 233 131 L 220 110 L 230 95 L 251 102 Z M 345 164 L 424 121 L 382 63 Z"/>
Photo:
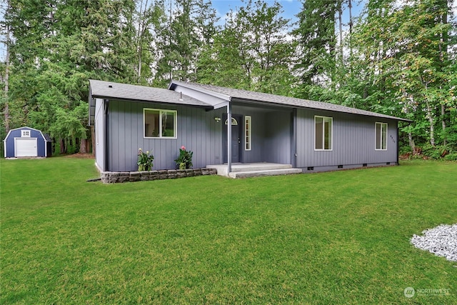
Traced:
<path fill-rule="evenodd" d="M 144 137 L 176 139 L 176 110 L 144 109 Z"/>

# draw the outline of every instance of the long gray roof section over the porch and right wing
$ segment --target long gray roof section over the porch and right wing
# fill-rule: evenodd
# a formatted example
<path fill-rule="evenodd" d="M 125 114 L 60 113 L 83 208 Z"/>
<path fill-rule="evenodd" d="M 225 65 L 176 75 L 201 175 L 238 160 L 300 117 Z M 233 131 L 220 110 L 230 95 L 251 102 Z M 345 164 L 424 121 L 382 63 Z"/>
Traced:
<path fill-rule="evenodd" d="M 176 86 L 183 86 L 189 89 L 194 89 L 196 91 L 201 91 L 206 94 L 211 94 L 214 92 L 219 96 L 227 96 L 230 101 L 244 101 L 244 102 L 265 102 L 268 104 L 276 104 L 282 106 L 293 106 L 299 108 L 308 108 L 308 109 L 319 109 L 326 111 L 337 111 L 347 114 L 360 114 L 363 116 L 376 116 L 385 119 L 395 119 L 397 121 L 411 121 L 408 119 L 398 118 L 396 116 L 388 116 L 386 114 L 378 114 L 372 111 L 366 111 L 362 109 L 356 109 L 346 106 L 341 106 L 337 104 L 324 103 L 322 101 L 311 101 L 308 99 L 298 99 L 290 96 L 280 96 L 275 94 L 266 94 L 262 92 L 247 91 L 241 89 L 232 89 L 221 86 L 213 86 L 206 84 L 196 84 L 183 81 L 171 81 L 169 89 L 174 89 Z"/>

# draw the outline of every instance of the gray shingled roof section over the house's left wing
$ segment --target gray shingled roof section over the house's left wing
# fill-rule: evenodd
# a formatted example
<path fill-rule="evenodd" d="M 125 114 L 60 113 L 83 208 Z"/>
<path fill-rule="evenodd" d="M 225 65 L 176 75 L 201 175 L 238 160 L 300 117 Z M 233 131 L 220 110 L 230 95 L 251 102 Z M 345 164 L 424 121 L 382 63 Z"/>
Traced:
<path fill-rule="evenodd" d="M 91 97 L 99 99 L 122 99 L 128 101 L 159 102 L 166 104 L 184 104 L 189 106 L 211 107 L 204 101 L 193 99 L 179 92 L 149 86 L 137 86 L 115 83 L 113 81 L 89 80 Z"/>

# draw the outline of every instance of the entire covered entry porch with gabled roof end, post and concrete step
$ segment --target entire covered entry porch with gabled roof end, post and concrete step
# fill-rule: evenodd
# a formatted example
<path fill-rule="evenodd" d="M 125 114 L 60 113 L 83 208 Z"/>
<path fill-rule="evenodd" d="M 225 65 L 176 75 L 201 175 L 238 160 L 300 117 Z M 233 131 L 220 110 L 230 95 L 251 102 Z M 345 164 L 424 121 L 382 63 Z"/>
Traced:
<path fill-rule="evenodd" d="M 172 81 L 169 89 L 210 104 L 212 109 L 207 111 L 223 111 L 215 112 L 214 116 L 221 146 L 215 150 L 216 163 L 206 165 L 207 168 L 233 178 L 302 172 L 294 169 L 295 106 L 281 103 L 271 94 L 211 85 Z"/>

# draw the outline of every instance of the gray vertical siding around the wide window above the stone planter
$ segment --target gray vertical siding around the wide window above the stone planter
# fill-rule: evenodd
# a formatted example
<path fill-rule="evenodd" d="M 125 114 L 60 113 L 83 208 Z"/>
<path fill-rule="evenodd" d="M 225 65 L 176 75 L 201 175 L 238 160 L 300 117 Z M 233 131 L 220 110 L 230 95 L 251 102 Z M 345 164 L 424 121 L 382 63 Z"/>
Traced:
<path fill-rule="evenodd" d="M 144 109 L 176 110 L 176 139 L 144 138 Z M 221 164 L 222 122 L 224 109 L 205 111 L 197 107 L 129 101 L 109 101 L 109 171 L 136 171 L 138 149 L 154 155 L 153 169 L 176 169 L 175 159 L 185 146 L 193 151 L 194 168 Z"/>

